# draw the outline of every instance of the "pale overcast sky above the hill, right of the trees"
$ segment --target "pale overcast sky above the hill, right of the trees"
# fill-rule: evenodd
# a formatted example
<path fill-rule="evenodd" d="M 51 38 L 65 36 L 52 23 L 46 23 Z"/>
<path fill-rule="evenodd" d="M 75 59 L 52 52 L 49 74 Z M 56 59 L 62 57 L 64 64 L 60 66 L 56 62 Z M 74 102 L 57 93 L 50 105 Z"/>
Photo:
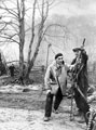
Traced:
<path fill-rule="evenodd" d="M 56 0 L 51 14 L 94 15 L 96 14 L 96 0 Z"/>

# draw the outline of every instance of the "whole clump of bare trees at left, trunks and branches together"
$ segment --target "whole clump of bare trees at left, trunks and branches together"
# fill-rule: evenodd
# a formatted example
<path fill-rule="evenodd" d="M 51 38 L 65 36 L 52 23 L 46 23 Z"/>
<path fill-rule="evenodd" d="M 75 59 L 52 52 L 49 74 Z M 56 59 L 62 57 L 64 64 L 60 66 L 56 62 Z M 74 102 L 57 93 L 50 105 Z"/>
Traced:
<path fill-rule="evenodd" d="M 15 1 L 4 0 L 2 2 L 2 5 L 0 5 L 0 10 L 3 12 L 1 16 L 2 20 L 6 17 L 9 17 L 10 20 L 9 22 L 2 21 L 3 29 L 0 34 L 0 37 L 1 37 L 0 42 L 3 42 L 3 43 L 12 42 L 12 43 L 17 43 L 19 46 L 19 76 L 23 77 L 25 38 L 26 38 L 26 32 L 28 30 L 31 30 L 31 38 L 29 41 L 26 75 L 25 75 L 25 77 L 28 78 L 30 70 L 33 66 L 33 63 L 37 58 L 39 47 L 43 40 L 49 9 L 50 9 L 50 5 L 53 4 L 54 0 L 52 1 L 41 0 L 41 3 L 38 0 L 30 2 L 32 4 L 32 13 L 31 13 L 32 18 L 31 18 L 31 27 L 27 29 L 25 29 L 25 26 L 26 26 L 25 16 L 26 16 L 26 12 L 29 9 L 26 9 L 26 5 L 25 5 L 26 1 L 27 0 L 15 0 Z M 9 4 L 8 4 L 9 2 L 11 2 L 12 8 L 9 8 Z M 40 14 L 38 26 L 36 26 L 37 10 L 39 11 L 39 14 Z M 36 31 L 38 32 L 36 34 Z M 31 48 L 33 43 L 36 44 L 36 48 L 35 48 L 35 51 L 32 52 Z"/>

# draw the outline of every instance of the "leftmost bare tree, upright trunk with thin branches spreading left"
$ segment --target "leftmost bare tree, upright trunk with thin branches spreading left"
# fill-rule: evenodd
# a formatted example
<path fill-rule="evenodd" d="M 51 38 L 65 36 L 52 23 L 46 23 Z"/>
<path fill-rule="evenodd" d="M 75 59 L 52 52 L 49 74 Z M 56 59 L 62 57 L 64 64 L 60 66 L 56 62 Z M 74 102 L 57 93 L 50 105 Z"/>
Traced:
<path fill-rule="evenodd" d="M 12 4 L 13 8 L 9 8 L 8 4 L 9 1 L 5 0 L 0 6 L 0 10 L 3 12 L 1 22 L 4 26 L 0 34 L 0 42 L 15 42 L 19 46 L 19 75 L 22 76 L 25 44 L 25 0 L 16 0 L 16 2 Z M 3 21 L 4 18 L 8 18 L 9 22 Z"/>

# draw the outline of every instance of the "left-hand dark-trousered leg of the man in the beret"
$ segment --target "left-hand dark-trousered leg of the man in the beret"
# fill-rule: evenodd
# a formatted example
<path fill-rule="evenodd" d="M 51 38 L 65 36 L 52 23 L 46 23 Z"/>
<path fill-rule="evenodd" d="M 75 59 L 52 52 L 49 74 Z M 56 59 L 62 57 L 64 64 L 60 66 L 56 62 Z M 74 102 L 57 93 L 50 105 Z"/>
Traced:
<path fill-rule="evenodd" d="M 53 103 L 53 94 L 49 93 L 49 94 L 46 95 L 45 117 L 51 117 L 52 103 Z"/>

